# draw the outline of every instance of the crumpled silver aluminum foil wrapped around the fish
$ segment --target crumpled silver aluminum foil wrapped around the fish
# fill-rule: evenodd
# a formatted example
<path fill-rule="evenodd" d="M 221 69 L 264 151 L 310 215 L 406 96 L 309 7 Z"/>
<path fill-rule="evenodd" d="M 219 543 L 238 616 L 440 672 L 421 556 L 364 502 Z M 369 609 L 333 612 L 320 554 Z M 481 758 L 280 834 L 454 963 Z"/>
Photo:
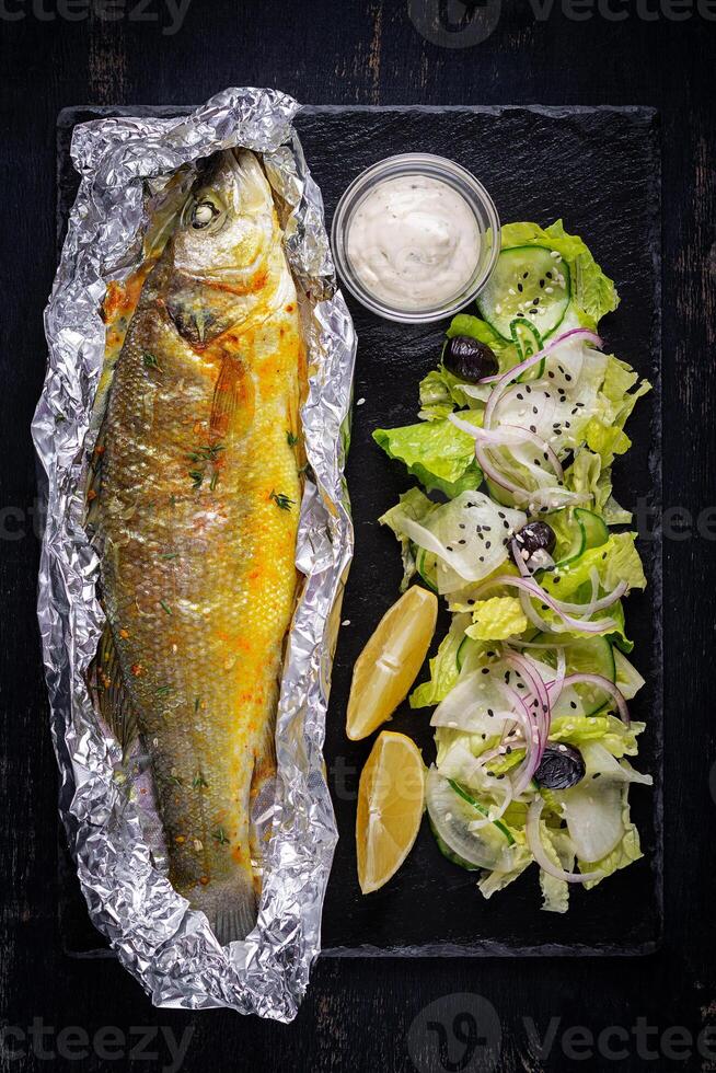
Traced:
<path fill-rule="evenodd" d="M 291 1020 L 320 949 L 336 842 L 322 757 L 340 600 L 353 554 L 344 481 L 356 339 L 336 289 L 321 193 L 292 118 L 274 90 L 229 89 L 177 119 L 84 124 L 72 140 L 81 175 L 46 311 L 47 378 L 33 423 L 46 474 L 38 615 L 60 770 L 60 814 L 90 915 L 158 1006 L 228 1006 Z M 309 348 L 302 409 L 311 465 L 297 565 L 305 576 L 287 644 L 276 745 L 278 774 L 258 921 L 222 947 L 206 916 L 170 885 L 136 787 L 97 718 L 85 676 L 102 633 L 99 559 L 83 530 L 90 415 L 102 369 L 107 281 L 137 267 L 146 191 L 161 197 L 182 166 L 220 149 L 262 154 L 285 226 Z M 155 819 L 155 818 L 154 818 Z"/>

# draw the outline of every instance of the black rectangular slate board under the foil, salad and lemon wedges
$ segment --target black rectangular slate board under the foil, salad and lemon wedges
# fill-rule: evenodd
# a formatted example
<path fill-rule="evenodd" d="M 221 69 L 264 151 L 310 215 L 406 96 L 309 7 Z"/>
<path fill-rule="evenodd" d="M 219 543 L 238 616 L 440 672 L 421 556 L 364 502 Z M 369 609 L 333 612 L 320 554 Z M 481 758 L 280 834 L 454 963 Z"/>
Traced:
<path fill-rule="evenodd" d="M 117 114 L 177 114 L 168 108 L 71 108 L 58 123 L 58 238 L 77 187 L 69 160 L 77 123 Z M 661 501 L 660 408 L 660 157 L 657 118 L 649 108 L 305 108 L 297 123 L 320 184 L 328 223 L 350 180 L 396 152 L 450 155 L 475 172 L 503 220 L 550 223 L 563 217 L 581 234 L 619 287 L 622 305 L 602 325 L 608 349 L 649 378 L 655 391 L 632 418 L 634 447 L 616 464 L 615 494 L 632 509 Z M 370 741 L 343 732 L 351 668 L 380 615 L 397 595 L 397 545 L 376 523 L 409 486 L 401 468 L 373 445 L 374 428 L 415 419 L 417 385 L 435 365 L 444 325 L 390 324 L 349 301 L 359 336 L 356 408 L 348 463 L 356 523 L 356 556 L 348 582 L 333 676 L 325 755 L 340 841 L 323 916 L 324 955 L 630 955 L 654 950 L 661 936 L 661 540 L 642 530 L 649 578 L 645 595 L 628 600 L 636 642 L 634 661 L 648 685 L 632 704 L 645 719 L 639 766 L 655 789 L 636 787 L 633 815 L 645 859 L 597 889 L 574 891 L 566 916 L 540 911 L 536 876 L 522 877 L 485 902 L 474 877 L 438 853 L 424 824 L 408 862 L 383 890 L 362 898 L 355 876 L 355 795 Z M 658 516 L 658 515 L 657 515 Z M 443 627 L 447 620 L 442 622 Z M 440 632 L 436 637 L 439 639 Z M 404 705 L 392 728 L 416 738 L 434 757 L 428 716 Z M 101 954 L 83 910 L 71 863 L 60 876 L 60 926 L 68 953 Z"/>

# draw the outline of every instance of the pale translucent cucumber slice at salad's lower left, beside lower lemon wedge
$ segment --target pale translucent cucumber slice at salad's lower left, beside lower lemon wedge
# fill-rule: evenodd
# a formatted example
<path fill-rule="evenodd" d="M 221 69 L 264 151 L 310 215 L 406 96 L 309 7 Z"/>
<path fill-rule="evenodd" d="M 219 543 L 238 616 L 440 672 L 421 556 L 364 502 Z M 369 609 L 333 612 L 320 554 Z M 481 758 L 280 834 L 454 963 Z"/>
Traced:
<path fill-rule="evenodd" d="M 426 801 L 434 832 L 451 854 L 465 863 L 463 867 L 488 868 L 490 872 L 509 869 L 506 854 L 510 843 L 504 833 L 495 823 L 471 831 L 470 823 L 481 819 L 482 814 L 455 793 L 437 768 L 428 771 Z"/>

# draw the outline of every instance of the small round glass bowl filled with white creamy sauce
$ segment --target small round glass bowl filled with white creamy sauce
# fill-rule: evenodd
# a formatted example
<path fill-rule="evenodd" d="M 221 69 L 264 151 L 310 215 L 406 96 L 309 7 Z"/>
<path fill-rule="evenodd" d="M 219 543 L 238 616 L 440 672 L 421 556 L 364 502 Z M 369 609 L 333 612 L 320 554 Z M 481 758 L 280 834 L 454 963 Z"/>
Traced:
<path fill-rule="evenodd" d="M 336 268 L 367 309 L 391 321 L 450 316 L 485 286 L 499 217 L 475 176 L 446 157 L 403 153 L 362 172 L 333 217 Z"/>

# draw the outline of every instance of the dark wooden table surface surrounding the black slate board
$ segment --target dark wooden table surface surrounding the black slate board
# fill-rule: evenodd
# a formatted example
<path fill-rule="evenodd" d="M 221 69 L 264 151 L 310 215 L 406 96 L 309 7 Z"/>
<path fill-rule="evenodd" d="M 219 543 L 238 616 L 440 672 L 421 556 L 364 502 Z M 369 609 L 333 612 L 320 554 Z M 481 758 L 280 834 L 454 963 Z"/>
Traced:
<path fill-rule="evenodd" d="M 716 1066 L 716 1029 L 713 1040 L 701 1036 L 703 1053 L 697 1046 L 716 1022 L 716 508 L 709 510 L 716 503 L 716 4 L 612 0 L 609 10 L 628 12 L 612 21 L 589 18 L 589 3 L 555 2 L 541 21 L 534 10 L 550 4 L 504 0 L 492 35 L 464 48 L 448 45 L 467 43 L 469 26 L 447 45 L 437 15 L 429 18 L 431 11 L 459 16 L 458 0 L 193 0 L 172 34 L 162 32 L 172 28 L 164 2 L 127 0 L 102 10 L 120 14 L 123 7 L 124 16 L 109 22 L 96 10 L 88 13 L 81 0 L 0 5 L 0 1070 L 176 1069 L 170 1043 L 185 1030 L 183 1069 L 197 1071 Z M 472 8 L 487 26 L 499 3 Z M 159 21 L 146 21 L 160 11 Z M 62 953 L 28 435 L 44 376 L 42 310 L 55 270 L 55 120 L 69 104 L 183 104 L 252 83 L 312 103 L 660 111 L 663 503 L 671 536 L 665 541 L 666 931 L 656 955 L 320 960 L 296 1023 L 281 1027 L 223 1012 L 155 1011 L 114 961 Z M 470 1017 L 460 1016 L 471 1009 L 480 1038 Z M 490 1045 L 498 1036 L 497 1060 Z"/>

